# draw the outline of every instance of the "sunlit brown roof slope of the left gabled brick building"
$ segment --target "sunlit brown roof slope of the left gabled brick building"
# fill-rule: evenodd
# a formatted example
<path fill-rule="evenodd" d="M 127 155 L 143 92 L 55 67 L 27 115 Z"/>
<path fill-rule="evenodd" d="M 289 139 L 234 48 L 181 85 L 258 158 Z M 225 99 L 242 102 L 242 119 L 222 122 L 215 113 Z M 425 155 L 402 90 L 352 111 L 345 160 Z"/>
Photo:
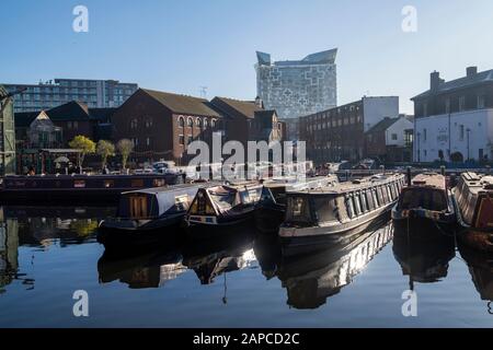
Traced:
<path fill-rule="evenodd" d="M 219 114 L 209 106 L 209 102 L 205 98 L 172 94 L 169 92 L 148 89 L 139 90 L 146 92 L 149 96 L 158 101 L 172 113 L 220 117 Z"/>

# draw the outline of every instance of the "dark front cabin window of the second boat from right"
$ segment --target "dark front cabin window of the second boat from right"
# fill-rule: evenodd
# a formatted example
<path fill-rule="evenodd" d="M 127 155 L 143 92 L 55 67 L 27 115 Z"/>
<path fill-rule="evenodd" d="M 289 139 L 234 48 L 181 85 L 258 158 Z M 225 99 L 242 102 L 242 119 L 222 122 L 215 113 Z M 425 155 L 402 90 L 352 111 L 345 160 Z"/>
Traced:
<path fill-rule="evenodd" d="M 422 208 L 442 211 L 447 209 L 447 200 L 445 194 L 440 190 L 429 190 L 424 188 L 404 189 L 400 208 Z"/>

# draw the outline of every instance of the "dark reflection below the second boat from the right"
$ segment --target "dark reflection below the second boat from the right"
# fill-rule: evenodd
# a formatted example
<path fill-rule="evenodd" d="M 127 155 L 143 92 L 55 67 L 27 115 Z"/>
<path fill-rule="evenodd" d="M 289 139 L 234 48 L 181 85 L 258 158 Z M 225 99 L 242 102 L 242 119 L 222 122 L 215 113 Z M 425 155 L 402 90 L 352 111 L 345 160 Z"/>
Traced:
<path fill-rule="evenodd" d="M 435 238 L 417 240 L 403 231 L 395 228 L 392 250 L 402 273 L 410 277 L 410 288 L 414 281 L 433 283 L 446 278 L 448 262 L 456 255 L 454 236 L 424 232 Z"/>

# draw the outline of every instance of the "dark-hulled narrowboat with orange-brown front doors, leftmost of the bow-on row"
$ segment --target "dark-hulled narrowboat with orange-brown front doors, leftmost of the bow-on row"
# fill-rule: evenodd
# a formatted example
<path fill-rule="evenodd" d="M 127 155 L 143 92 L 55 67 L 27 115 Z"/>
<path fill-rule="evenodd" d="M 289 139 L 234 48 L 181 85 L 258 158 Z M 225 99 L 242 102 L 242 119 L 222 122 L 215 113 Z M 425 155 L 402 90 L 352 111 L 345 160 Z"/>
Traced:
<path fill-rule="evenodd" d="M 123 192 L 116 218 L 100 223 L 98 241 L 108 247 L 171 240 L 204 186 L 206 184 L 183 184 Z"/>

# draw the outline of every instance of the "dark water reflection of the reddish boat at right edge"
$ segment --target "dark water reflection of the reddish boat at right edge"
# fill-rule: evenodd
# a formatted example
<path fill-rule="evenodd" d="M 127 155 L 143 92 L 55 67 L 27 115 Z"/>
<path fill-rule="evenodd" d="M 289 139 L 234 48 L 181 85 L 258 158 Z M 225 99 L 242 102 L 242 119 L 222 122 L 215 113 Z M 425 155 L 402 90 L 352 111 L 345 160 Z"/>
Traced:
<path fill-rule="evenodd" d="M 493 254 L 478 252 L 459 243 L 460 256 L 466 260 L 472 282 L 481 300 L 489 301 L 489 313 L 493 314 Z"/>

